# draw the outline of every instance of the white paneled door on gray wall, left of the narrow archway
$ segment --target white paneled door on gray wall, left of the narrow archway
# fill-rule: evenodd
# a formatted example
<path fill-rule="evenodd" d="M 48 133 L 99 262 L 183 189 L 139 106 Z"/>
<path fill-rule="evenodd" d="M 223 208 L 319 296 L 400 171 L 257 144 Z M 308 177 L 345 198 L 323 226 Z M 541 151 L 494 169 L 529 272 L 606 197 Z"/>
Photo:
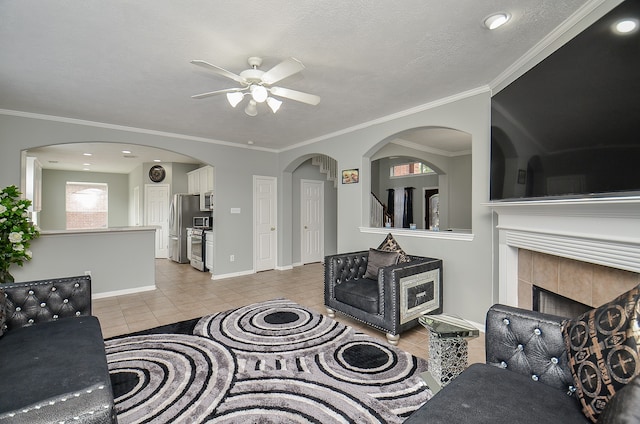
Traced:
<path fill-rule="evenodd" d="M 278 238 L 276 231 L 276 178 L 253 176 L 254 269 L 275 269 Z"/>

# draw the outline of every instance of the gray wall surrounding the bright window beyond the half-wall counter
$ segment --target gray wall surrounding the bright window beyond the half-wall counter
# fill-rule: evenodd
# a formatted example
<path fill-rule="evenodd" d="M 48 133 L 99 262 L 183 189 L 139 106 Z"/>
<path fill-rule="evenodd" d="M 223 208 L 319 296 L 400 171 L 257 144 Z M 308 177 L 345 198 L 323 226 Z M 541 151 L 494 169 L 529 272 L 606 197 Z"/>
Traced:
<path fill-rule="evenodd" d="M 67 228 L 65 206 L 67 182 L 107 184 L 109 190 L 109 227 L 129 225 L 129 182 L 126 174 L 43 169 L 40 228 L 43 230 L 64 230 Z"/>

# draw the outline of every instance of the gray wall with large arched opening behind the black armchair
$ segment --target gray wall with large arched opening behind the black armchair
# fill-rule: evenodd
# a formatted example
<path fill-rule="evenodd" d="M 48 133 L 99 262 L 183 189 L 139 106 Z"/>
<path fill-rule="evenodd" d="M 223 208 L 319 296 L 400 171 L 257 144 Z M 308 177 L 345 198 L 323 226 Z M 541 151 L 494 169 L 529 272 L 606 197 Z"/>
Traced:
<path fill-rule="evenodd" d="M 443 233 L 428 237 L 425 233 L 429 232 L 423 231 L 420 235 L 396 234 L 396 239 L 408 253 L 443 259 L 445 312 L 484 322 L 486 311 L 498 294 L 497 273 L 494 275 L 493 271 L 493 215 L 483 206 L 489 199 L 490 100 L 488 90 L 477 90 L 449 103 L 282 152 L 284 191 L 291 184 L 291 172 L 313 154 L 335 158 L 339 169 L 359 168 L 359 184 L 338 186 L 337 249 L 350 252 L 374 247 L 383 240 L 384 233 L 363 228 L 369 219 L 370 158 L 394 135 L 410 128 L 446 127 L 470 134 L 473 239 L 447 238 Z M 282 228 L 288 217 L 285 214 L 280 219 Z"/>

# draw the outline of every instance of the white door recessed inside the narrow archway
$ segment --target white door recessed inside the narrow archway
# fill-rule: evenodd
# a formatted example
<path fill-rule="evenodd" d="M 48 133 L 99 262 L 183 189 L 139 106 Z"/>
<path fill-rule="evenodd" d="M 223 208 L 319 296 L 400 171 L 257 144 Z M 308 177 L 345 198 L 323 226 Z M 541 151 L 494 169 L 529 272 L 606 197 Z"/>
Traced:
<path fill-rule="evenodd" d="M 302 264 L 324 257 L 324 182 L 300 181 L 300 243 Z"/>

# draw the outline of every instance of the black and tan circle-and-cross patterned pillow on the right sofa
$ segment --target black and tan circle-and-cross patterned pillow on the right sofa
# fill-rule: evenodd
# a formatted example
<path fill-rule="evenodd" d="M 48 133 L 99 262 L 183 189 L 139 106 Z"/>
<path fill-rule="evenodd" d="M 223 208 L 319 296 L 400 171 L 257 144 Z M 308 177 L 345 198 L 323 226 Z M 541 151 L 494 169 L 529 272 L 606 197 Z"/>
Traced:
<path fill-rule="evenodd" d="M 594 423 L 613 395 L 640 373 L 640 286 L 562 328 L 582 411 Z"/>

